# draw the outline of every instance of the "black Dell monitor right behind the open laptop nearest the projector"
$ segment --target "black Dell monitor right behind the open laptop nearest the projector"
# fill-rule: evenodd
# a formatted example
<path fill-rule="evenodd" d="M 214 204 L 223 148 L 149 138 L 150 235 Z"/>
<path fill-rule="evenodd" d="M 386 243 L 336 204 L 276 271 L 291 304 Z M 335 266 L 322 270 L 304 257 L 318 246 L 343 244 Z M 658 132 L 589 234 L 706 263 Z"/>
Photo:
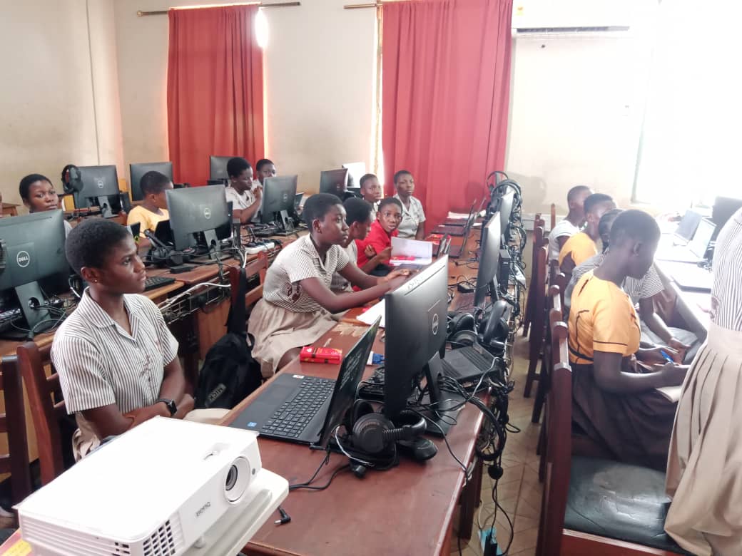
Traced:
<path fill-rule="evenodd" d="M 386 347 L 384 354 L 384 414 L 395 420 L 415 389 L 418 380 L 427 378 L 430 403 L 447 411 L 459 400 L 441 396 L 440 352 L 446 342 L 448 316 L 448 257 L 441 257 L 407 282 L 384 296 L 386 312 Z M 440 427 L 430 432 L 445 434 L 450 419 L 440 413 L 426 416 Z M 448 414 L 450 417 L 450 413 Z"/>

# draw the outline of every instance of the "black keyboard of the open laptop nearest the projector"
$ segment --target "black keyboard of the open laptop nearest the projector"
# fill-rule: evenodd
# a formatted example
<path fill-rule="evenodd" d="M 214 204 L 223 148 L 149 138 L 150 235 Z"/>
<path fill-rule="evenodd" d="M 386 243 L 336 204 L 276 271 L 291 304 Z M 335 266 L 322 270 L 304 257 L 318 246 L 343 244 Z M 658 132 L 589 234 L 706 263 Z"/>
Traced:
<path fill-rule="evenodd" d="M 260 428 L 260 432 L 275 437 L 300 437 L 332 394 L 333 388 L 335 380 L 304 377 L 296 395 L 276 409 L 272 417 Z"/>

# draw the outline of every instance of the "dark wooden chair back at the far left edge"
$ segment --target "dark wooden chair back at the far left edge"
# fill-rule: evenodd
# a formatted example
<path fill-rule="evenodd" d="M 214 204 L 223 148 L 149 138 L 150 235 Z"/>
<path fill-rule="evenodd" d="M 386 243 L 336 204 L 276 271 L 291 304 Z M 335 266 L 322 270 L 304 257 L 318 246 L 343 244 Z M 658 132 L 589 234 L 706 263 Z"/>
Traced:
<path fill-rule="evenodd" d="M 7 454 L 0 454 L 0 474 L 10 473 L 12 505 L 31 493 L 23 389 L 15 355 L 3 357 L 0 362 L 0 390 L 5 403 L 5 412 L 0 413 L 0 432 L 7 434 Z"/>

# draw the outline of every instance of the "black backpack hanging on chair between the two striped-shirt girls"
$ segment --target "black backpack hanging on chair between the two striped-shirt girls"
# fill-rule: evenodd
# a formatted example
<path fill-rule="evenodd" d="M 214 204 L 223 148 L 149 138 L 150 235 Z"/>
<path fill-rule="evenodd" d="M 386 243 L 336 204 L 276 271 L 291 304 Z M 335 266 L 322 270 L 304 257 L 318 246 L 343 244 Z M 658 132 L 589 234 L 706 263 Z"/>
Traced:
<path fill-rule="evenodd" d="M 237 306 L 232 304 L 229 310 L 227 333 L 209 348 L 201 367 L 195 395 L 197 409 L 232 409 L 263 383 L 260 363 L 252 358 L 246 341 L 244 268 L 239 282 Z"/>

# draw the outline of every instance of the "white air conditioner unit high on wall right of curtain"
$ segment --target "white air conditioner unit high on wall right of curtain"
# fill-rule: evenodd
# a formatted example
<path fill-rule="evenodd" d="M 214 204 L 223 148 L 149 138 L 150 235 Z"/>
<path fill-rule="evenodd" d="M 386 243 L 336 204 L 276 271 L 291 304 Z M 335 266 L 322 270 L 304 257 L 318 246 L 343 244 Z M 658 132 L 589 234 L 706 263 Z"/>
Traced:
<path fill-rule="evenodd" d="M 625 33 L 636 0 L 521 0 L 513 4 L 513 34 Z"/>

